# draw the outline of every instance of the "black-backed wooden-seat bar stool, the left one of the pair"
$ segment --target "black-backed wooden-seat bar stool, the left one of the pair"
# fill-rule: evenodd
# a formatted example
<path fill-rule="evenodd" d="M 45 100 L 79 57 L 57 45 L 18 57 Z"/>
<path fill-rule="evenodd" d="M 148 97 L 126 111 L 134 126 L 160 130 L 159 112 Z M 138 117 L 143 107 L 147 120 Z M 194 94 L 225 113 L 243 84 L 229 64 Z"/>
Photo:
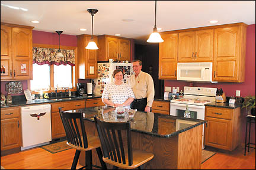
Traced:
<path fill-rule="evenodd" d="M 92 169 L 92 166 L 94 166 L 101 169 L 107 169 L 107 166 L 103 161 L 100 139 L 98 136 L 87 136 L 82 113 L 64 112 L 61 107 L 59 107 L 59 113 L 68 139 L 67 145 L 76 149 L 71 169 L 76 169 L 81 151 L 85 151 L 86 158 L 86 164 L 82 168 Z M 78 126 L 78 122 L 80 122 L 81 126 Z M 80 135 L 81 132 L 82 136 Z M 102 167 L 92 165 L 92 149 L 96 149 Z"/>

